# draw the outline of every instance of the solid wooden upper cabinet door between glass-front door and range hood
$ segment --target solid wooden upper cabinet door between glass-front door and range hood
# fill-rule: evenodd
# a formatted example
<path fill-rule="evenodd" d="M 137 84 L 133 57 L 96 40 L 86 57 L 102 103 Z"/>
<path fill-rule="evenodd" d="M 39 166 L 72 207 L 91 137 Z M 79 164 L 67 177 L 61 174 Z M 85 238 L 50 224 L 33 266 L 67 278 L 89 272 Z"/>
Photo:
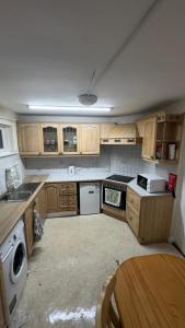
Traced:
<path fill-rule="evenodd" d="M 80 126 L 80 153 L 100 154 L 100 125 Z"/>

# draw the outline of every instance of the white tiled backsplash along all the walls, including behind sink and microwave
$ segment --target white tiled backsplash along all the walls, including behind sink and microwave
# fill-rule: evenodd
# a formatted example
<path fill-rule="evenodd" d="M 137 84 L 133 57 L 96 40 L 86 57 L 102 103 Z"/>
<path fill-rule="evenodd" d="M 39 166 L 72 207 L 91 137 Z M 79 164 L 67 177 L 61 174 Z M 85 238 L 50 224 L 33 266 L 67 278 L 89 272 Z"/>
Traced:
<path fill-rule="evenodd" d="M 65 169 L 68 166 L 103 169 L 115 174 L 136 176 L 138 173 L 152 173 L 167 178 L 169 173 L 175 173 L 176 167 L 170 165 L 155 165 L 141 159 L 140 145 L 103 145 L 101 156 L 86 157 L 33 157 L 20 160 L 19 155 L 0 159 L 0 195 L 5 191 L 5 168 L 19 162 L 22 173 L 46 173 L 47 169 Z M 36 171 L 36 172 L 35 172 Z"/>

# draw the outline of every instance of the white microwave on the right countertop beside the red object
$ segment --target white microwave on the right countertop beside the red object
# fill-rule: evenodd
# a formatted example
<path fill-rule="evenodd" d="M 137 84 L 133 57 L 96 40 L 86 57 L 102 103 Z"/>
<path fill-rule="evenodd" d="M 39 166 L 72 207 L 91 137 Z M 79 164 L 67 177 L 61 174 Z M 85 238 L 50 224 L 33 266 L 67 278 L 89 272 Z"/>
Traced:
<path fill-rule="evenodd" d="M 138 174 L 137 184 L 148 192 L 164 192 L 166 181 L 154 174 Z"/>

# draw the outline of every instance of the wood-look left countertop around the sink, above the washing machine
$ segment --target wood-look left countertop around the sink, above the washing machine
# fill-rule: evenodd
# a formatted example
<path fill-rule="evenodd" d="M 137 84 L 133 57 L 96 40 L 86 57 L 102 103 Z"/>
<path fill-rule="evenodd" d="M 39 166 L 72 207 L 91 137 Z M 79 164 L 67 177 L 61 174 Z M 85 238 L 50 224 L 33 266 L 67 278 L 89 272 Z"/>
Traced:
<path fill-rule="evenodd" d="M 0 202 L 0 244 L 7 238 L 9 233 L 15 226 L 16 222 L 24 214 L 26 208 L 31 204 L 37 192 L 42 189 L 47 179 L 46 175 L 30 175 L 24 178 L 24 183 L 39 183 L 35 192 L 26 201 Z"/>

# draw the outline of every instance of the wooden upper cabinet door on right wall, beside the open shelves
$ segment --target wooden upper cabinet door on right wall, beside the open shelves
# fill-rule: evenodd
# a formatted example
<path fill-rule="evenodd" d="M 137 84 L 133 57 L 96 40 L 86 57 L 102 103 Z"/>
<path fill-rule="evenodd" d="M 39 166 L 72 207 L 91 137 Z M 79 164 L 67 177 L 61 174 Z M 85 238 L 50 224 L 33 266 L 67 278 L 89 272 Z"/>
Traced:
<path fill-rule="evenodd" d="M 142 140 L 142 157 L 154 160 L 157 134 L 157 117 L 144 120 L 144 134 Z"/>

